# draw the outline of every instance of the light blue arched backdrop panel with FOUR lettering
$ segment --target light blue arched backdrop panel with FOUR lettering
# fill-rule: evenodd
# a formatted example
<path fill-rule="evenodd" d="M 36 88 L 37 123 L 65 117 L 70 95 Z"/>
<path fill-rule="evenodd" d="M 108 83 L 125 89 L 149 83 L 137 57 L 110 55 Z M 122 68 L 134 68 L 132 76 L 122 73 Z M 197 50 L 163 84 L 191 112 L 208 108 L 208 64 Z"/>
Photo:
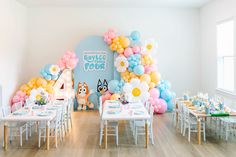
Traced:
<path fill-rule="evenodd" d="M 75 52 L 80 62 L 74 69 L 74 89 L 77 92 L 78 83 L 86 82 L 90 93 L 88 101 L 94 105 L 94 108 L 97 108 L 100 90 L 107 90 L 110 80 L 120 78 L 114 68 L 115 54 L 111 52 L 102 36 L 90 36 L 83 39 L 76 47 Z M 102 90 L 100 87 L 104 89 Z M 77 108 L 78 101 L 76 100 L 74 109 Z"/>

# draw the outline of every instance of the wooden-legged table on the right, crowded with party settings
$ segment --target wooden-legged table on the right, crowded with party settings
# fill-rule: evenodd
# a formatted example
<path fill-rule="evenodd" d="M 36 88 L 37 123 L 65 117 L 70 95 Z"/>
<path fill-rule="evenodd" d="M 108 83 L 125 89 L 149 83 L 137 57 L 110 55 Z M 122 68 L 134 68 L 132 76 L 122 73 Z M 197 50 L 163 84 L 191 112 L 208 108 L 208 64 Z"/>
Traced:
<path fill-rule="evenodd" d="M 215 117 L 215 116 L 212 116 L 212 114 L 206 114 L 205 112 L 199 112 L 197 111 L 193 106 L 193 104 L 190 102 L 190 101 L 186 101 L 186 100 L 179 100 L 177 101 L 176 103 L 176 108 L 179 108 L 178 107 L 178 102 L 182 102 L 185 106 L 188 107 L 189 109 L 189 112 L 195 116 L 197 118 L 197 128 L 198 128 L 198 144 L 200 145 L 201 144 L 201 120 L 202 119 L 206 119 L 206 118 L 212 118 L 212 117 Z M 176 113 L 176 124 L 178 123 L 178 112 Z M 229 112 L 227 117 L 233 117 L 233 116 L 236 116 L 236 112 L 233 111 L 233 112 Z M 226 116 L 221 116 L 221 117 L 226 117 Z M 177 125 L 176 125 L 177 126 Z"/>

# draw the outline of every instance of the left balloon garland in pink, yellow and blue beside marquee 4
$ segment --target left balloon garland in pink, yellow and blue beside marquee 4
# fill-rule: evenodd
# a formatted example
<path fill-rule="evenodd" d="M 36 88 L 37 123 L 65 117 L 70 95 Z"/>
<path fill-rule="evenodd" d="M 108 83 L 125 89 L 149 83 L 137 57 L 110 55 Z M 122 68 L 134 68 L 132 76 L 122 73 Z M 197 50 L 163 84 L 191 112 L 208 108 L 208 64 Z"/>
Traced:
<path fill-rule="evenodd" d="M 11 105 L 22 102 L 26 99 L 34 101 L 38 96 L 34 91 L 44 91 L 49 98 L 53 97 L 55 81 L 59 78 L 64 69 L 74 69 L 78 63 L 78 58 L 74 52 L 66 51 L 60 58 L 58 64 L 47 64 L 41 69 L 42 77 L 32 78 L 26 84 L 23 84 L 11 99 Z"/>

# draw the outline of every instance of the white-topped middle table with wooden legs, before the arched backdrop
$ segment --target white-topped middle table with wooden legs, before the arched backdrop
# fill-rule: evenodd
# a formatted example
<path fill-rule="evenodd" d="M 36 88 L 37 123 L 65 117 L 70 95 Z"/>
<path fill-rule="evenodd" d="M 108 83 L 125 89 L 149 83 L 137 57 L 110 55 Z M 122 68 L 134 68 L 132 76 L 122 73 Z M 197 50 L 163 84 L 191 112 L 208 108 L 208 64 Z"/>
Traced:
<path fill-rule="evenodd" d="M 119 121 L 119 120 L 145 120 L 145 135 L 146 135 L 146 145 L 148 147 L 148 120 L 150 119 L 150 115 L 147 112 L 144 104 L 141 102 L 137 103 L 129 103 L 126 105 L 120 104 L 120 108 L 113 109 L 110 106 L 118 105 L 120 102 L 112 102 L 107 100 L 103 104 L 103 112 L 102 112 L 102 120 L 104 121 L 104 144 L 105 149 L 107 148 L 107 122 L 108 121 Z M 137 107 L 140 106 L 140 107 Z M 120 112 L 116 114 L 110 114 L 110 110 L 119 110 Z M 143 114 L 135 114 L 137 111 L 143 112 Z"/>

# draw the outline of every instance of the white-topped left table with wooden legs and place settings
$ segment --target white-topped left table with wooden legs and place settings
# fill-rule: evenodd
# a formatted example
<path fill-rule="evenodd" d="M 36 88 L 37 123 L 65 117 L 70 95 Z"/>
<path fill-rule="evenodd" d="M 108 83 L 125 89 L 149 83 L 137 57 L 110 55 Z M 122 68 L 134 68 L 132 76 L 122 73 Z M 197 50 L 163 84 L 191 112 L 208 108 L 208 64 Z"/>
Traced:
<path fill-rule="evenodd" d="M 34 105 L 36 106 L 36 105 Z M 47 105 L 50 107 L 51 105 Z M 21 108 L 16 112 L 27 111 L 25 108 Z M 27 111 L 27 114 L 23 115 L 14 115 L 13 113 L 9 114 L 7 117 L 1 118 L 1 121 L 4 122 L 4 149 L 7 150 L 7 129 L 8 123 L 10 122 L 28 122 L 28 121 L 37 121 L 37 122 L 46 122 L 46 143 L 47 150 L 49 150 L 49 126 L 50 121 L 56 117 L 56 110 L 50 110 L 50 114 L 48 116 L 39 116 L 38 114 L 42 112 L 43 109 L 31 109 L 31 111 Z"/>

